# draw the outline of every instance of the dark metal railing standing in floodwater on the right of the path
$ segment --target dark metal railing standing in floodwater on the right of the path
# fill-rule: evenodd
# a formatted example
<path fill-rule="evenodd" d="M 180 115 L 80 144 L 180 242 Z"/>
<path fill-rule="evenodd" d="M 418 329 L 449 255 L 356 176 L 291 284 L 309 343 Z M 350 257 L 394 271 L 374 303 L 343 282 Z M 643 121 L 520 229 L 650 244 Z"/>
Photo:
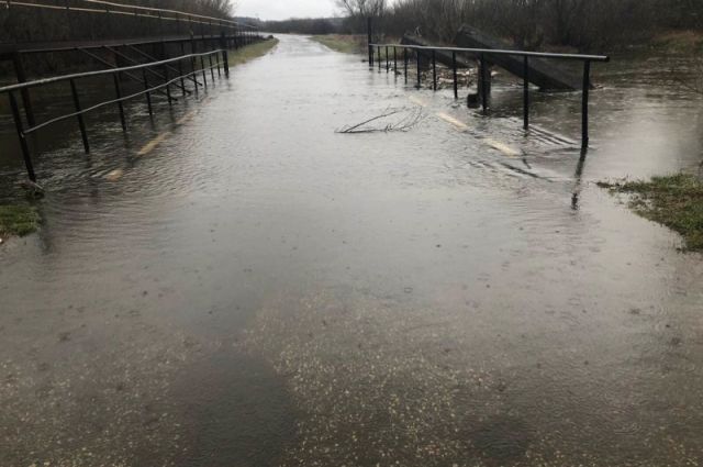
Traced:
<path fill-rule="evenodd" d="M 589 145 L 589 94 L 591 91 L 591 63 L 604 63 L 610 62 L 610 57 L 605 55 L 582 55 L 582 54 L 554 54 L 546 52 L 525 52 L 525 51 L 504 51 L 494 48 L 466 48 L 466 47 L 439 47 L 439 46 L 425 46 L 425 45 L 410 45 L 410 44 L 376 44 L 369 42 L 369 66 L 372 68 L 375 63 L 375 52 L 378 53 L 378 66 L 381 68 L 381 48 L 386 49 L 386 70 L 390 70 L 390 54 L 389 51 L 393 51 L 393 70 L 398 69 L 398 49 L 403 51 L 403 68 L 405 82 L 408 82 L 408 64 L 409 54 L 408 51 L 415 51 L 415 57 L 417 63 L 417 88 L 422 86 L 421 74 L 421 53 L 426 53 L 432 59 L 432 76 L 433 76 L 433 89 L 437 90 L 437 52 L 450 52 L 451 53 L 451 69 L 454 80 L 454 97 L 458 99 L 458 79 L 457 79 L 457 54 L 468 54 L 471 57 L 476 57 L 479 60 L 479 93 L 481 94 L 481 107 L 486 113 L 488 110 L 488 57 L 491 55 L 507 55 L 523 58 L 523 126 L 525 130 L 529 129 L 529 59 L 531 58 L 546 58 L 546 59 L 559 59 L 559 60 L 577 60 L 583 63 L 583 79 L 581 89 L 581 147 L 587 148 Z"/>

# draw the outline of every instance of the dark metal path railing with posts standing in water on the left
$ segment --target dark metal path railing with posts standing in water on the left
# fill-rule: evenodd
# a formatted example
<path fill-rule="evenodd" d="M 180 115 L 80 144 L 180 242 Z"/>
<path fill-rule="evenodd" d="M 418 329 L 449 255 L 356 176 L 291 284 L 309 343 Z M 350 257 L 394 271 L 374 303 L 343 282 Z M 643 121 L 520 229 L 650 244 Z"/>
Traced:
<path fill-rule="evenodd" d="M 214 57 L 214 63 L 213 63 Z M 208 64 L 205 64 L 205 58 L 208 59 Z M 198 59 L 200 59 L 200 65 L 198 65 Z M 190 70 L 186 70 L 186 67 L 190 67 Z M 155 71 L 157 68 L 160 73 Z M 169 105 L 172 104 L 172 101 L 177 100 L 171 93 L 171 87 L 179 88 L 182 92 L 182 96 L 186 97 L 190 91 L 186 88 L 186 80 L 190 80 L 193 82 L 193 90 L 196 94 L 198 93 L 198 87 L 207 87 L 208 85 L 208 71 L 210 71 L 211 79 L 214 81 L 215 79 L 215 69 L 217 70 L 217 75 L 221 76 L 221 68 L 224 68 L 225 77 L 230 76 L 230 66 L 227 63 L 227 52 L 226 49 L 216 49 L 211 52 L 204 52 L 199 54 L 188 54 L 182 55 L 175 58 L 168 58 L 165 60 L 150 62 L 146 64 L 132 65 L 120 68 L 110 68 L 110 69 L 101 69 L 96 71 L 85 71 L 71 75 L 63 75 L 56 76 L 52 78 L 38 79 L 34 81 L 21 82 L 16 85 L 5 86 L 0 88 L 0 94 L 7 94 L 10 101 L 10 109 L 12 111 L 12 116 L 14 120 L 14 126 L 18 133 L 18 137 L 20 141 L 20 147 L 22 149 L 22 157 L 24 159 L 24 165 L 26 168 L 27 176 L 30 180 L 36 181 L 36 174 L 34 171 L 34 165 L 32 163 L 32 156 L 30 152 L 30 145 L 27 142 L 27 136 L 38 132 L 40 130 L 53 125 L 55 123 L 68 120 L 68 119 L 77 119 L 78 127 L 80 130 L 80 135 L 83 143 L 83 149 L 86 154 L 90 153 L 90 145 L 88 142 L 88 132 L 86 130 L 86 122 L 83 115 L 88 112 L 92 112 L 100 108 L 107 105 L 116 105 L 120 112 L 120 122 L 122 124 L 122 130 L 124 132 L 127 131 L 126 118 L 124 113 L 123 102 L 135 99 L 141 96 L 145 96 L 146 104 L 148 108 L 149 115 L 153 114 L 154 109 L 152 105 L 152 93 L 165 93 L 168 99 Z M 169 76 L 169 69 L 176 69 L 176 76 Z M 141 78 L 137 78 L 144 85 L 144 89 L 127 96 L 122 93 L 122 87 L 120 84 L 121 75 L 130 76 L 134 78 L 134 73 L 141 71 Z M 198 80 L 198 75 L 202 74 L 202 82 Z M 149 82 L 149 75 L 156 76 L 158 82 L 152 80 Z M 115 98 L 102 101 L 94 105 L 83 109 L 80 103 L 78 82 L 85 78 L 94 78 L 94 77 L 111 77 L 114 86 Z M 24 126 L 22 122 L 22 116 L 20 114 L 20 105 L 18 103 L 18 92 L 26 91 L 31 88 L 38 88 L 48 85 L 56 85 L 62 82 L 68 82 L 70 87 L 70 94 L 72 98 L 72 103 L 75 111 L 63 114 L 60 116 L 53 118 L 51 120 L 44 121 L 37 124 L 30 124 L 27 127 Z"/>

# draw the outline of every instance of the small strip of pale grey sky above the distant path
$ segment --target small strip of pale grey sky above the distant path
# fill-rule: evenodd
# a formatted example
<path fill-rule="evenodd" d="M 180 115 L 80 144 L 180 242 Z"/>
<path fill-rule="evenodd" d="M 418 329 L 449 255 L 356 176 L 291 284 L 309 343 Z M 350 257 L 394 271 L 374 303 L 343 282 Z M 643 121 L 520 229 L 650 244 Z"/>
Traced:
<path fill-rule="evenodd" d="M 332 16 L 337 8 L 334 0 L 236 0 L 237 16 L 258 16 L 261 20 Z"/>

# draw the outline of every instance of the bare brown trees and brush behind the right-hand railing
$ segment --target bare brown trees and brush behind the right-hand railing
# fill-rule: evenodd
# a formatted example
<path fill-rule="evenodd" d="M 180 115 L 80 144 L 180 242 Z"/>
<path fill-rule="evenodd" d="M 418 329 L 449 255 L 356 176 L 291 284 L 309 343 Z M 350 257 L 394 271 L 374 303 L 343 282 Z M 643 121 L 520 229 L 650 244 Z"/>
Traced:
<path fill-rule="evenodd" d="M 649 38 L 657 30 L 703 30 L 702 0 L 337 0 L 344 32 L 416 32 L 451 43 L 464 23 L 521 48 L 545 44 L 596 51 Z"/>

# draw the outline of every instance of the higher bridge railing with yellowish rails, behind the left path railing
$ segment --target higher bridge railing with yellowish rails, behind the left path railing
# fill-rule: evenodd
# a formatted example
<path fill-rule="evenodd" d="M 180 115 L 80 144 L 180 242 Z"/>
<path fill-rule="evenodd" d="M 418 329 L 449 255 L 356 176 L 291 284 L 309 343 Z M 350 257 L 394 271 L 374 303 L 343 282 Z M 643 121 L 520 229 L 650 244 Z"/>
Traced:
<path fill-rule="evenodd" d="M 135 4 L 126 4 L 107 0 L 0 0 L 0 8 L 3 14 L 11 18 L 15 10 L 49 10 L 57 13 L 64 12 L 63 18 L 65 26 L 68 26 L 69 33 L 72 33 L 71 20 L 79 13 L 100 14 L 105 18 L 119 16 L 120 19 L 147 19 L 155 21 L 158 25 L 154 35 L 164 35 L 168 33 L 192 33 L 192 34 L 216 34 L 222 32 L 235 31 L 238 34 L 250 35 L 257 34 L 258 27 L 241 21 L 234 21 L 227 18 L 209 16 L 204 14 L 190 13 L 179 10 L 170 10 L 163 8 L 142 7 Z M 40 19 L 41 21 L 41 19 Z M 171 31 L 169 30 L 171 26 Z M 119 26 L 115 24 L 114 26 Z M 14 25 L 16 27 L 16 25 Z M 11 27 L 7 27 L 10 30 Z M 107 27 L 108 30 L 119 31 L 120 27 Z M 175 29 L 175 31 L 172 31 Z M 188 29 L 188 31 L 181 31 Z M 8 31 L 5 31 L 8 32 Z M 103 32 L 104 33 L 104 32 Z M 56 37 L 52 37 L 56 40 Z"/>

